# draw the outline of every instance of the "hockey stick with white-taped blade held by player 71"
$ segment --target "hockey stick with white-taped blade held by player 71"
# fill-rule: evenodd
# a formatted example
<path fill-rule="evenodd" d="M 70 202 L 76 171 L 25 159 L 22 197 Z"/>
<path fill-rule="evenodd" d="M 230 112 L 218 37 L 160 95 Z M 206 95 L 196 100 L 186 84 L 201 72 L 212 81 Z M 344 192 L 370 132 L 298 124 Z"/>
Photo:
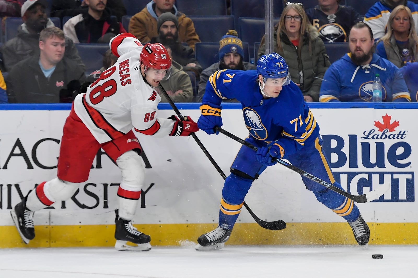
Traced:
<path fill-rule="evenodd" d="M 242 145 L 245 145 L 249 148 L 252 148 L 253 150 L 258 149 L 255 145 L 252 145 L 251 143 L 248 143 L 247 141 L 242 140 L 238 136 L 235 136 L 232 133 L 229 133 L 228 131 L 226 131 L 222 128 L 216 127 L 215 130 L 219 131 L 220 133 L 223 133 L 224 135 L 227 135 L 229 138 L 232 138 L 237 142 L 240 142 Z M 329 188 L 330 190 L 332 190 L 332 191 L 334 191 L 334 192 L 336 192 L 340 195 L 343 195 L 344 197 L 347 197 L 347 198 L 353 200 L 356 203 L 367 203 L 367 202 L 370 202 L 372 200 L 375 200 L 375 199 L 379 198 L 380 196 L 382 196 L 383 193 L 385 193 L 390 187 L 390 185 L 388 185 L 388 186 L 383 185 L 383 186 L 380 186 L 379 188 L 377 188 L 376 190 L 372 190 L 372 191 L 367 192 L 367 193 L 362 194 L 362 195 L 352 195 L 352 194 L 350 194 L 348 192 L 345 192 L 344 190 L 332 185 L 331 183 L 327 183 L 325 180 L 321 180 L 320 178 L 317 178 L 314 175 L 311 175 L 308 172 L 305 172 L 302 169 L 300 169 L 296 166 L 293 166 L 293 165 L 291 165 L 291 164 L 289 164 L 289 163 L 287 163 L 287 162 L 285 162 L 285 161 L 283 161 L 279 158 L 275 158 L 275 160 L 277 160 L 277 162 L 280 163 L 281 165 L 295 171 L 296 173 L 299 173 L 303 177 L 308 178 L 310 180 L 313 180 L 314 182 L 319 183 L 320 185 L 324 185 L 326 188 Z"/>

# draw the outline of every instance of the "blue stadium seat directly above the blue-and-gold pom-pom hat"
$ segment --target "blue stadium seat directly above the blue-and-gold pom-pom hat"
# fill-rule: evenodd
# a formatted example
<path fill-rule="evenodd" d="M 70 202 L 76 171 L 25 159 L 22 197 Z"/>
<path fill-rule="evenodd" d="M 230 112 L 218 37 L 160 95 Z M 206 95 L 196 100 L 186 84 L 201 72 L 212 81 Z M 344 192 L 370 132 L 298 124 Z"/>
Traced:
<path fill-rule="evenodd" d="M 232 15 L 190 17 L 202 43 L 218 42 L 228 30 L 235 29 Z"/>

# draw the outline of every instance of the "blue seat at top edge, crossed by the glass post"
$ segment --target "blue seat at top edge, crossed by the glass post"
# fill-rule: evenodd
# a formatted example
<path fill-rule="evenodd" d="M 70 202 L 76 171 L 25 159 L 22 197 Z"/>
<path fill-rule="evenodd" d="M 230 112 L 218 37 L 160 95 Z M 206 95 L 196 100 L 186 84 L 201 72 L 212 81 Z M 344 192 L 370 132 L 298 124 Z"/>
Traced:
<path fill-rule="evenodd" d="M 281 1 L 274 1 L 273 17 L 280 18 L 282 11 Z M 264 18 L 264 13 L 263 0 L 231 0 L 231 15 L 234 16 L 236 26 L 240 17 Z"/>

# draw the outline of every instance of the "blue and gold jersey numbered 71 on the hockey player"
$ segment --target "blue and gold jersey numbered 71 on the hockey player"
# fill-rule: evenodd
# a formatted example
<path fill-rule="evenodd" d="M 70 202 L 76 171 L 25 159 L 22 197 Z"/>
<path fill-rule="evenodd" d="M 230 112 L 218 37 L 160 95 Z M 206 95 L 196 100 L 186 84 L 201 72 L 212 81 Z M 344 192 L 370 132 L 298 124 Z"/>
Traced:
<path fill-rule="evenodd" d="M 285 155 L 314 142 L 319 126 L 295 83 L 283 86 L 277 98 L 264 99 L 256 70 L 218 70 L 209 77 L 202 105 L 219 107 L 236 98 L 242 105 L 245 125 L 257 140 L 279 140 Z"/>

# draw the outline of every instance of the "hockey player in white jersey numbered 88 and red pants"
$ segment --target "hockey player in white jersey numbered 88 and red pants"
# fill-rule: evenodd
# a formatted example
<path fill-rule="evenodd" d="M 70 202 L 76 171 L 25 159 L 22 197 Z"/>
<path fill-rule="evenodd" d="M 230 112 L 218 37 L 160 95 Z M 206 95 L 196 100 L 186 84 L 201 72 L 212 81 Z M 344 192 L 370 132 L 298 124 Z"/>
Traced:
<path fill-rule="evenodd" d="M 110 41 L 117 63 L 94 81 L 87 93 L 76 96 L 64 125 L 57 177 L 40 183 L 10 212 L 25 243 L 35 237 L 33 213 L 53 203 L 67 200 L 88 176 L 100 148 L 122 172 L 117 191 L 119 209 L 115 210 L 115 248 L 150 250 L 150 236 L 133 227 L 145 175 L 145 163 L 137 132 L 154 136 L 189 136 L 199 130 L 190 117 L 158 118 L 161 98 L 155 91 L 170 75 L 171 59 L 159 43 L 145 46 L 130 33 Z M 127 245 L 127 241 L 136 246 Z"/>

